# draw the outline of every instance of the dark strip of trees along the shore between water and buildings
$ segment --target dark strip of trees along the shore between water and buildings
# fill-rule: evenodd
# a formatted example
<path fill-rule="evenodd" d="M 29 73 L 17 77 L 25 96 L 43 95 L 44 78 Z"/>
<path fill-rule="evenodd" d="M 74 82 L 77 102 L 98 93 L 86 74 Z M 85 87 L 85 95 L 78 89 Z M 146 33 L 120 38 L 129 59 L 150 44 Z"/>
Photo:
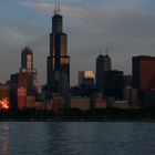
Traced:
<path fill-rule="evenodd" d="M 118 110 L 79 108 L 61 110 L 59 112 L 27 108 L 23 111 L 0 111 L 1 121 L 155 121 L 155 108 Z"/>

